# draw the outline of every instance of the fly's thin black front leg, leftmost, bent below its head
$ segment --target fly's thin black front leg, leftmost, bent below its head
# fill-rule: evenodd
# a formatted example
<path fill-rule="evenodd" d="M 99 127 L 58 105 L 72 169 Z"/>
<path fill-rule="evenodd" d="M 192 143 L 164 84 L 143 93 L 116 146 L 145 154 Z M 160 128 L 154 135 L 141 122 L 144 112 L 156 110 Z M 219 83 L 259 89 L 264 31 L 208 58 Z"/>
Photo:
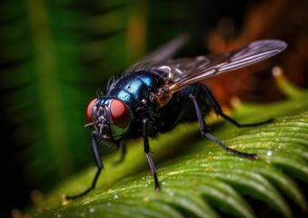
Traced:
<path fill-rule="evenodd" d="M 93 182 L 92 182 L 91 186 L 88 189 L 86 189 L 83 193 L 79 193 L 79 194 L 76 194 L 74 196 L 65 196 L 65 198 L 67 200 L 82 197 L 86 193 L 89 193 L 91 190 L 93 190 L 95 188 L 95 185 L 96 185 L 96 182 L 98 180 L 98 177 L 99 177 L 102 169 L 104 168 L 102 160 L 101 160 L 101 156 L 100 156 L 100 154 L 98 152 L 97 145 L 96 145 L 96 142 L 95 142 L 95 139 L 97 138 L 97 136 L 98 136 L 97 132 L 93 131 L 92 132 L 92 150 L 93 150 L 93 154 L 94 154 L 95 164 L 97 166 L 97 171 L 96 171 L 96 173 L 94 175 Z"/>

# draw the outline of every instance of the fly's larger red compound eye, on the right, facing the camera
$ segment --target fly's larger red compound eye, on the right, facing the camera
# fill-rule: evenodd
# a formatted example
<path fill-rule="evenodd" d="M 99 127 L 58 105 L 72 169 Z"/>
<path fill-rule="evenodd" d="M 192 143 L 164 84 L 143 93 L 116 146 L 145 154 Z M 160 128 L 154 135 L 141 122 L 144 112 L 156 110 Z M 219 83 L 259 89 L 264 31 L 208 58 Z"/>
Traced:
<path fill-rule="evenodd" d="M 120 100 L 114 99 L 110 104 L 110 114 L 114 124 L 124 129 L 131 123 L 131 114 L 127 106 Z"/>

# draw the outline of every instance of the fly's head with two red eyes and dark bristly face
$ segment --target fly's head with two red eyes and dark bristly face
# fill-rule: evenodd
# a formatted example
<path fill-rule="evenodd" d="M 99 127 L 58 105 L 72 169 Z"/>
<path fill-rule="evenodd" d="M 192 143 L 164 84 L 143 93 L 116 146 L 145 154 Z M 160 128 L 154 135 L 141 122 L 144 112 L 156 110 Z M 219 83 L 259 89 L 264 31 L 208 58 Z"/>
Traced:
<path fill-rule="evenodd" d="M 131 113 L 123 101 L 102 96 L 92 100 L 86 108 L 88 124 L 106 141 L 114 142 L 123 137 L 131 124 Z"/>

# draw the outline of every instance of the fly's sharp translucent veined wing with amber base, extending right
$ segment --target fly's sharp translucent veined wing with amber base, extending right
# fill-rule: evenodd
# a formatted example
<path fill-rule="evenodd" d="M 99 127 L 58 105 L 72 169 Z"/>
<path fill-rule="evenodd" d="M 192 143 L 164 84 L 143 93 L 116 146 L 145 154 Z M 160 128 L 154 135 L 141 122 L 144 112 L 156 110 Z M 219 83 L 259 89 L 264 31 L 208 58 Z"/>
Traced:
<path fill-rule="evenodd" d="M 164 85 L 160 95 L 171 95 L 191 84 L 263 61 L 286 46 L 281 40 L 260 40 L 224 54 L 170 60 L 165 65 L 174 69 L 174 78 Z"/>

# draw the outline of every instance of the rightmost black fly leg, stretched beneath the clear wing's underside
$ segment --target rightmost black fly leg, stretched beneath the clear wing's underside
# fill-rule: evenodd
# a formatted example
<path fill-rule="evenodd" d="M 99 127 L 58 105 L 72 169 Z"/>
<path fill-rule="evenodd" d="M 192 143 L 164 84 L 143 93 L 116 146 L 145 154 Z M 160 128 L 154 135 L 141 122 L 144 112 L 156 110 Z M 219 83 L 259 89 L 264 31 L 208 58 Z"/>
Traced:
<path fill-rule="evenodd" d="M 239 124 L 237 121 L 233 120 L 233 118 L 231 118 L 227 114 L 224 114 L 221 106 L 218 104 L 218 102 L 214 98 L 214 95 L 211 93 L 211 91 L 205 85 L 203 85 L 202 87 L 203 87 L 204 93 L 206 94 L 207 99 L 210 101 L 210 104 L 213 106 L 215 113 L 222 116 L 225 120 L 229 121 L 230 123 L 236 125 L 239 128 L 241 128 L 241 127 L 252 127 L 252 126 L 257 126 L 257 125 L 260 125 L 260 124 L 268 124 L 268 123 L 273 122 L 273 118 L 270 118 L 266 121 L 259 122 L 259 123 Z"/>

